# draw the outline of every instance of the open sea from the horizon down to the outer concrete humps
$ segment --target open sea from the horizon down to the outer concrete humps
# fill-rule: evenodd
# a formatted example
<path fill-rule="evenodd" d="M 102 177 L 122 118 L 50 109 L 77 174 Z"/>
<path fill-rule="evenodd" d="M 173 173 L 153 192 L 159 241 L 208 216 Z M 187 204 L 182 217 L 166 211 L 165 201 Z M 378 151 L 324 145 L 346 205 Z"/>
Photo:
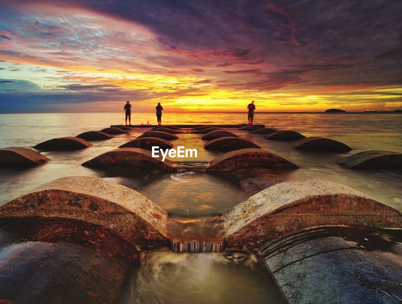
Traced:
<path fill-rule="evenodd" d="M 0 114 L 0 146 L 34 146 L 47 139 L 125 124 L 124 113 Z M 131 124 L 157 125 L 154 113 L 133 113 Z M 247 113 L 164 113 L 162 123 L 247 123 Z M 402 115 L 331 113 L 256 113 L 255 124 L 291 129 L 305 136 L 340 140 L 356 150 L 402 152 Z"/>

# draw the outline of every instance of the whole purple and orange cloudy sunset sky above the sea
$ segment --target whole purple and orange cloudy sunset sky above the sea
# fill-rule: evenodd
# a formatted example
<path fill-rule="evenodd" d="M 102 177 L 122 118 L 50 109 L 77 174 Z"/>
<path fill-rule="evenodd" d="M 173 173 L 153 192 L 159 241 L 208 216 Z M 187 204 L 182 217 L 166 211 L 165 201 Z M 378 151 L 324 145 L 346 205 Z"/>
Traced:
<path fill-rule="evenodd" d="M 0 0 L 0 113 L 402 109 L 401 16 L 400 0 Z"/>

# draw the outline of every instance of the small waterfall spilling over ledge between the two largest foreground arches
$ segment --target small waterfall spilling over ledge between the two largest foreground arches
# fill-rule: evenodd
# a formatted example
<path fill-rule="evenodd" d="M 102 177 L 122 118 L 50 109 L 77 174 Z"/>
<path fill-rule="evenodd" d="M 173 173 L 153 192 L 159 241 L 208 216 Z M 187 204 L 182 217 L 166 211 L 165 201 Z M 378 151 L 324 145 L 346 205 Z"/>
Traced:
<path fill-rule="evenodd" d="M 224 241 L 171 240 L 172 251 L 176 253 L 207 253 L 224 251 Z"/>

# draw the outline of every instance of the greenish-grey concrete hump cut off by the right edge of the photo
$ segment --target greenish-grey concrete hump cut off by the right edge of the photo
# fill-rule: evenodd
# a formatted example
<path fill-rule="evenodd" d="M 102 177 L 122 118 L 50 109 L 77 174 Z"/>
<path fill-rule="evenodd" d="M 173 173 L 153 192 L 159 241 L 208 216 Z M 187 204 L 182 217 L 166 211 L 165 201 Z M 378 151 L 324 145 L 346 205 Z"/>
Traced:
<path fill-rule="evenodd" d="M 401 169 L 402 153 L 384 150 L 363 151 L 339 160 L 338 164 L 355 169 Z"/>

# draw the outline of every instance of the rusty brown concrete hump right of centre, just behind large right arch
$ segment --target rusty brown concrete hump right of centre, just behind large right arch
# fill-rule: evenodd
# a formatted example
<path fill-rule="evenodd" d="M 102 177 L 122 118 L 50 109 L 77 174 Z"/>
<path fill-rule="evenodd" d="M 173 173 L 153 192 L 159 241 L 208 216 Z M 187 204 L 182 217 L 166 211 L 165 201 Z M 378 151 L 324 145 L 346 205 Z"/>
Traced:
<path fill-rule="evenodd" d="M 248 148 L 219 155 L 209 162 L 206 170 L 232 171 L 246 167 L 299 168 L 277 154 L 258 148 Z"/>

